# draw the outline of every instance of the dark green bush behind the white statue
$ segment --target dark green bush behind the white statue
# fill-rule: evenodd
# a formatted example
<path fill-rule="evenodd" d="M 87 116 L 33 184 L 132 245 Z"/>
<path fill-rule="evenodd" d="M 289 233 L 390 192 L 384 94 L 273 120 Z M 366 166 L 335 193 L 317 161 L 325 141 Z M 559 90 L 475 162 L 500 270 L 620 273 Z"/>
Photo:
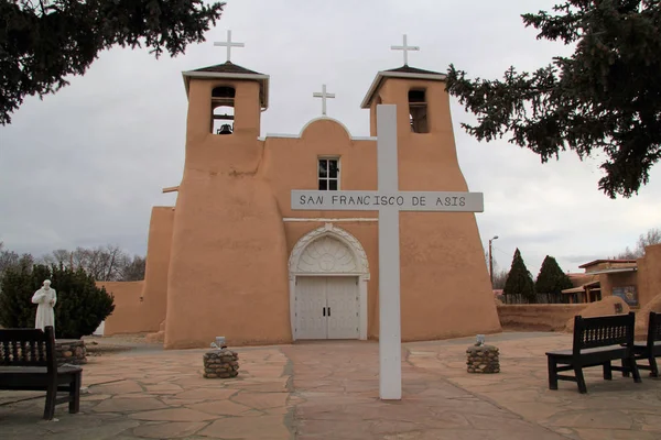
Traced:
<path fill-rule="evenodd" d="M 63 266 L 35 265 L 8 270 L 0 280 L 0 326 L 34 328 L 36 305 L 32 295 L 44 279 L 57 293 L 55 336 L 58 339 L 79 339 L 91 334 L 115 310 L 115 298 L 106 288 L 97 287 L 85 271 Z"/>

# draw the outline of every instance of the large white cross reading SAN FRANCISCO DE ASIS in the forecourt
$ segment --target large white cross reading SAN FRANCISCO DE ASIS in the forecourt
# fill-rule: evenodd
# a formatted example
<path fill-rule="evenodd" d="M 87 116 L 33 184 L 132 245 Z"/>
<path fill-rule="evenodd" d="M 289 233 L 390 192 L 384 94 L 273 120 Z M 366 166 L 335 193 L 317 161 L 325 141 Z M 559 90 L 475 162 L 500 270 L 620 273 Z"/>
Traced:
<path fill-rule="evenodd" d="M 400 191 L 397 161 L 397 106 L 377 106 L 376 191 L 292 190 L 293 210 L 379 212 L 379 394 L 402 396 L 400 322 L 400 211 L 483 212 L 481 193 Z M 441 262 L 438 262 L 441 264 Z"/>

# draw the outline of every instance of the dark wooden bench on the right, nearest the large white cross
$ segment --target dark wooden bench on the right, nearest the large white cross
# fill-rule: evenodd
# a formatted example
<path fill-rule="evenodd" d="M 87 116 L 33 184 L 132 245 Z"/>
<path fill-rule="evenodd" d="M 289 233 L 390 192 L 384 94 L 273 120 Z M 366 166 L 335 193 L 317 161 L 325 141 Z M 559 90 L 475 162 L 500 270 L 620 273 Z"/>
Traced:
<path fill-rule="evenodd" d="M 595 318 L 574 317 L 574 342 L 571 350 L 548 352 L 549 388 L 557 389 L 557 381 L 572 381 L 579 393 L 587 393 L 583 369 L 604 367 L 604 378 L 613 378 L 613 370 L 633 374 L 640 383 L 640 374 L 633 356 L 633 331 L 636 315 L 603 316 Z M 613 366 L 611 361 L 622 361 L 622 366 Z M 560 365 L 560 366 L 559 366 Z M 574 371 L 573 376 L 559 372 Z"/>

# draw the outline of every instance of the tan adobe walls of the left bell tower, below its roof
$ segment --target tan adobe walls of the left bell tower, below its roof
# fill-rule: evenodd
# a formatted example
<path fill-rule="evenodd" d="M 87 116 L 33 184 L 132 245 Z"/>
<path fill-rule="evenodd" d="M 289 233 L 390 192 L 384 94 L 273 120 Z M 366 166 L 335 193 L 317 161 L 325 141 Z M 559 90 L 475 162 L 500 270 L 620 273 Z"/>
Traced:
<path fill-rule="evenodd" d="M 210 133 L 212 89 L 221 85 L 236 88 L 231 135 Z M 229 345 L 290 342 L 284 227 L 269 185 L 256 177 L 259 85 L 194 80 L 188 99 L 164 346 L 208 346 L 216 336 Z"/>

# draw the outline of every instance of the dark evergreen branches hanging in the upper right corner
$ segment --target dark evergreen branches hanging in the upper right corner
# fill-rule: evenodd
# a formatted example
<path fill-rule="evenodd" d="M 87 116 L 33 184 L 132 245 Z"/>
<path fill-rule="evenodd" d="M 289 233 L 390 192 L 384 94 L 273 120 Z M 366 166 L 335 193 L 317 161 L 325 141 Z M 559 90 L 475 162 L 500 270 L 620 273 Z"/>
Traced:
<path fill-rule="evenodd" d="M 502 80 L 449 66 L 448 92 L 478 121 L 462 125 L 479 141 L 511 133 L 542 163 L 565 150 L 604 157 L 599 189 L 631 197 L 661 160 L 661 2 L 567 0 L 553 10 L 521 16 L 571 56 L 531 73 L 512 66 Z"/>

